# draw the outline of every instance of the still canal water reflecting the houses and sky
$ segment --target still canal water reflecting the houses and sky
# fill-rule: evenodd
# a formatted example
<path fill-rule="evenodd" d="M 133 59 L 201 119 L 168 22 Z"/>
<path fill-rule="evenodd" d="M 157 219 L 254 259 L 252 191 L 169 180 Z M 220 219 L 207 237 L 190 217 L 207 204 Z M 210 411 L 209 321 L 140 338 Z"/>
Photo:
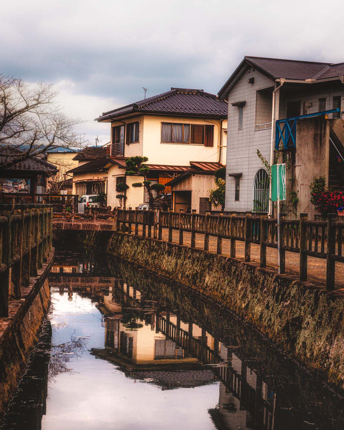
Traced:
<path fill-rule="evenodd" d="M 2 429 L 344 429 L 343 399 L 231 313 L 76 244 Z"/>

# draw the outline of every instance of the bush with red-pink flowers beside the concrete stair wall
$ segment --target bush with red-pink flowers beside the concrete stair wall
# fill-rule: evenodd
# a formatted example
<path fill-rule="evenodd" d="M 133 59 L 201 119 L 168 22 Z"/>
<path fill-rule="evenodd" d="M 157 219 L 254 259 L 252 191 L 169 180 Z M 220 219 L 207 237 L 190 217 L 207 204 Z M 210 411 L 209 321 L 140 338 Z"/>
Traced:
<path fill-rule="evenodd" d="M 344 207 L 344 192 L 325 187 L 325 176 L 316 175 L 310 184 L 310 201 L 322 216 L 335 213 Z"/>

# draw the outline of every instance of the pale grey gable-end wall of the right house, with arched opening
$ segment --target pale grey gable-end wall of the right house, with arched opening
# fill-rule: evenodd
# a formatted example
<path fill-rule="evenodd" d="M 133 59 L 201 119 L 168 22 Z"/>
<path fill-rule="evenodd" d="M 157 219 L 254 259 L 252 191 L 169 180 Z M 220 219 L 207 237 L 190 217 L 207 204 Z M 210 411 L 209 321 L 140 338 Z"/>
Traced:
<path fill-rule="evenodd" d="M 253 84 L 247 83 L 248 78 L 255 78 Z M 228 95 L 228 131 L 227 131 L 227 164 L 226 172 L 242 173 L 240 178 L 240 200 L 235 201 L 235 178 L 226 176 L 225 210 L 252 210 L 253 181 L 258 170 L 262 168 L 257 157 L 257 149 L 270 162 L 271 129 L 256 130 L 256 91 L 270 88 L 274 83 L 255 70 L 247 73 L 247 68 Z M 232 103 L 246 101 L 243 108 L 243 129 L 238 129 L 239 109 Z M 266 103 L 258 109 L 260 117 L 264 117 Z M 263 111 L 262 111 L 263 110 Z"/>

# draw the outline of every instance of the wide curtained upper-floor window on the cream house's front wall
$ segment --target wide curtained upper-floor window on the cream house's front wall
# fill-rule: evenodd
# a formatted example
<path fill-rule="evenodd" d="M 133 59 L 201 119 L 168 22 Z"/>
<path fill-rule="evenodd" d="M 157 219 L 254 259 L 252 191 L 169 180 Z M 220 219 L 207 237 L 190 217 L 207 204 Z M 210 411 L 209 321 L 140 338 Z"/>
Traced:
<path fill-rule="evenodd" d="M 161 142 L 214 146 L 214 126 L 161 123 Z"/>

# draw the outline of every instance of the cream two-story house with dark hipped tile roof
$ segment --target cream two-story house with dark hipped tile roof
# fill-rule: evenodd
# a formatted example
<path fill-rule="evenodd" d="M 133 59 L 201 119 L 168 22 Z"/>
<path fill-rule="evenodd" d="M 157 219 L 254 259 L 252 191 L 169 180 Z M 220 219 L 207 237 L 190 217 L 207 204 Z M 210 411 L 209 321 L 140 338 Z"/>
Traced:
<path fill-rule="evenodd" d="M 104 112 L 98 122 L 111 123 L 107 157 L 107 204 L 120 206 L 117 185 L 126 182 L 126 207 L 147 202 L 143 188 L 132 187 L 142 178 L 126 176 L 127 157 L 148 158 L 149 180 L 166 184 L 192 170 L 213 172 L 225 164 L 227 101 L 200 89 L 172 88 L 163 94 Z M 169 188 L 167 192 L 171 192 Z M 209 197 L 209 187 L 197 190 L 198 199 Z M 192 190 L 178 193 L 183 207 L 192 206 Z M 197 206 L 195 207 L 197 209 Z"/>

